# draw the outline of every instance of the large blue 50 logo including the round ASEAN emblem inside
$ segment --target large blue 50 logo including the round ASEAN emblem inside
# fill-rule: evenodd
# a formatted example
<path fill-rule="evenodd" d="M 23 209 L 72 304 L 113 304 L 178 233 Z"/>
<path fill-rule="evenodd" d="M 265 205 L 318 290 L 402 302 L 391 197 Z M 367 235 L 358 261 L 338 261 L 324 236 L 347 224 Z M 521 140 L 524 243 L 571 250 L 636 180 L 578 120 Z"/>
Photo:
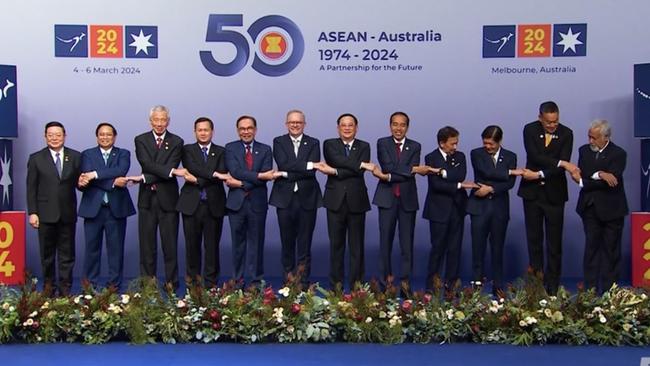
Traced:
<path fill-rule="evenodd" d="M 213 51 L 199 51 L 206 70 L 218 76 L 232 76 L 240 72 L 250 58 L 250 44 L 244 34 L 224 27 L 241 27 L 242 14 L 210 14 L 206 42 L 229 43 L 235 47 L 235 56 L 228 63 L 214 58 Z M 280 15 L 257 19 L 247 29 L 254 46 L 253 70 L 266 76 L 282 76 L 298 66 L 305 50 L 300 29 Z"/>

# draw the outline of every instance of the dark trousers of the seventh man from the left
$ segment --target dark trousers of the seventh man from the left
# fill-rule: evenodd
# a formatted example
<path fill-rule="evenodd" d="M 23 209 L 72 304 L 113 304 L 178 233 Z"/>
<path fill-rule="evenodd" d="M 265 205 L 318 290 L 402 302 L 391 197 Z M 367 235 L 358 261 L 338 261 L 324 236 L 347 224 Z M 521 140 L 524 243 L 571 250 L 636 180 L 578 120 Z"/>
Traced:
<path fill-rule="evenodd" d="M 346 241 L 350 248 L 350 289 L 354 288 L 356 282 L 363 282 L 365 224 L 366 213 L 350 212 L 346 201 L 343 201 L 341 207 L 336 211 L 327 210 L 327 232 L 330 238 L 330 286 L 332 289 L 343 284 Z"/>

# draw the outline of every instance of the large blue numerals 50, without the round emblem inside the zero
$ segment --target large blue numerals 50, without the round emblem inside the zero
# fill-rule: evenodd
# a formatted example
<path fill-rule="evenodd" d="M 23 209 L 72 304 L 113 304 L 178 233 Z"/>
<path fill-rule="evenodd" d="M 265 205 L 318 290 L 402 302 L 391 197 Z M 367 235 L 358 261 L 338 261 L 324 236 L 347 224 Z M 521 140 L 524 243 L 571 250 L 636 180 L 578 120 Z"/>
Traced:
<path fill-rule="evenodd" d="M 212 51 L 199 51 L 201 63 L 206 70 L 218 76 L 232 76 L 240 72 L 250 56 L 250 46 L 244 35 L 235 30 L 225 30 L 224 27 L 241 27 L 243 25 L 242 14 L 210 14 L 208 18 L 208 29 L 205 37 L 206 42 L 225 42 L 235 47 L 235 57 L 229 63 L 221 63 L 214 59 Z M 282 76 L 296 68 L 304 53 L 305 41 L 298 26 L 288 18 L 280 15 L 268 15 L 256 20 L 248 28 L 247 32 L 253 42 L 256 42 L 259 34 L 269 28 L 281 28 L 291 37 L 291 55 L 284 62 L 267 63 L 259 55 L 255 54 L 253 69 L 266 76 Z"/>

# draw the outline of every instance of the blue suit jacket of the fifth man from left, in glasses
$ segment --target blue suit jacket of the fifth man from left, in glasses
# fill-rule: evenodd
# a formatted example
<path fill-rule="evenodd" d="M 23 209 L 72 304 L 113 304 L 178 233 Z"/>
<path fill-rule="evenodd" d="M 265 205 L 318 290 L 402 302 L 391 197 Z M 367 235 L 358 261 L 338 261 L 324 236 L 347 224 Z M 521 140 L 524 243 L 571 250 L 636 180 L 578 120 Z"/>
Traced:
<path fill-rule="evenodd" d="M 273 169 L 273 154 L 271 147 L 261 142 L 253 142 L 253 169 L 246 167 L 246 148 L 241 140 L 229 142 L 226 145 L 226 168 L 233 178 L 242 181 L 242 188 L 230 188 L 226 207 L 238 211 L 244 204 L 244 198 L 250 196 L 255 212 L 268 209 L 266 181 L 257 179 L 257 174 Z"/>

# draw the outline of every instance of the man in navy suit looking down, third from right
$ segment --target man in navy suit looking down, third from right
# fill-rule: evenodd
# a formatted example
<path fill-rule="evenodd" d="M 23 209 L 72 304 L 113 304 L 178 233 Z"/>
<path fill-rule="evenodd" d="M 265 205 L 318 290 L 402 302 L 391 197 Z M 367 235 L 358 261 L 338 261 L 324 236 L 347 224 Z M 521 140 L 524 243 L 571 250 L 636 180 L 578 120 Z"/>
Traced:
<path fill-rule="evenodd" d="M 485 248 L 490 241 L 492 262 L 492 293 L 501 296 L 503 288 L 503 245 L 510 220 L 510 196 L 515 185 L 517 155 L 501 146 L 503 130 L 488 126 L 481 134 L 483 147 L 472 150 L 470 158 L 474 168 L 474 188 L 467 202 L 467 213 L 472 218 L 472 280 L 480 286 L 485 278 L 483 264 Z"/>

